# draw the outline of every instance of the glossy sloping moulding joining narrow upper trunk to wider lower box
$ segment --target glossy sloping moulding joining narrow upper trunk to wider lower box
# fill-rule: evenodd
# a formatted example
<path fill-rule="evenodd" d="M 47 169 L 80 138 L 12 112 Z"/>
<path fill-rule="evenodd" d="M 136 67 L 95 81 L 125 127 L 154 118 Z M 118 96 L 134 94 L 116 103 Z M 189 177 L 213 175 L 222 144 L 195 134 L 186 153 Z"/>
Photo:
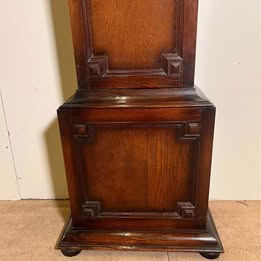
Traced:
<path fill-rule="evenodd" d="M 204 107 L 212 103 L 198 88 L 77 90 L 63 108 Z"/>

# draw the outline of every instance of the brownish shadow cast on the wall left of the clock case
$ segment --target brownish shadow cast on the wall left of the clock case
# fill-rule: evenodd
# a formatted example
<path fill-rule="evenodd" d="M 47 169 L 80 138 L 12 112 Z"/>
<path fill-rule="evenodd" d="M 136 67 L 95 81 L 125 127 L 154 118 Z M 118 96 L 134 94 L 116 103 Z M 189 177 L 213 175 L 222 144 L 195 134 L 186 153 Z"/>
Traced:
<path fill-rule="evenodd" d="M 63 100 L 66 100 L 74 94 L 77 85 L 68 2 L 64 0 L 49 0 L 49 5 L 56 41 L 61 93 Z M 50 123 L 44 136 L 49 157 L 54 197 L 55 199 L 68 198 L 57 118 Z"/>

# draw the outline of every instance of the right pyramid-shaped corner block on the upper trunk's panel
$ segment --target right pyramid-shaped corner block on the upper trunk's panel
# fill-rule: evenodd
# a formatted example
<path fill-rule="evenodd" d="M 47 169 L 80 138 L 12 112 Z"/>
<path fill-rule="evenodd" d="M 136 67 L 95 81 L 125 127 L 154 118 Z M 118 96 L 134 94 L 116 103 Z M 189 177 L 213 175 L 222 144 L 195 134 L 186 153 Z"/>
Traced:
<path fill-rule="evenodd" d="M 177 54 L 162 54 L 163 70 L 168 76 L 183 76 L 183 59 Z"/>

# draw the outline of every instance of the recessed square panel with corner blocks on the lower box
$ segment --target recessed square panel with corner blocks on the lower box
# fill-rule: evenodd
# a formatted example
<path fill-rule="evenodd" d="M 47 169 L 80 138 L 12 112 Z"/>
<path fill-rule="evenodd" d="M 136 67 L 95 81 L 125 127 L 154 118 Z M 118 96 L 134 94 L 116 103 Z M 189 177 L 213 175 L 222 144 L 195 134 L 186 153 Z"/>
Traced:
<path fill-rule="evenodd" d="M 199 135 L 185 123 L 75 126 L 84 215 L 194 217 Z"/>

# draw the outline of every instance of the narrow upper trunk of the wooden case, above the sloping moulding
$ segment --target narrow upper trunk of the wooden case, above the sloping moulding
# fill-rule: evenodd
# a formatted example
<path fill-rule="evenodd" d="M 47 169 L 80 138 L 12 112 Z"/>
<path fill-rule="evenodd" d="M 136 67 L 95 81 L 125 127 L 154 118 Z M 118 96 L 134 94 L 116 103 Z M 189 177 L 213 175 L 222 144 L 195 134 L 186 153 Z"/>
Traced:
<path fill-rule="evenodd" d="M 194 85 L 197 0 L 69 0 L 79 88 Z"/>

